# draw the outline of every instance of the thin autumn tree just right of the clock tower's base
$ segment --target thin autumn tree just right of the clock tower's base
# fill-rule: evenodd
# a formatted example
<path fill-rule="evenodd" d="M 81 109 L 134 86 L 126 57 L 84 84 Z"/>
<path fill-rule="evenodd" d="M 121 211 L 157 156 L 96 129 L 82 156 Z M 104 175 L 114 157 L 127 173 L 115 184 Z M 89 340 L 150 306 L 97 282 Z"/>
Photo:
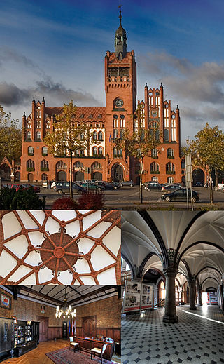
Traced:
<path fill-rule="evenodd" d="M 144 173 L 144 158 L 151 156 L 152 149 L 155 149 L 161 144 L 160 130 L 158 127 L 146 129 L 143 121 L 143 107 L 139 104 L 137 108 L 137 118 L 135 119 L 136 128 L 132 134 L 129 130 L 125 130 L 125 150 L 127 155 L 134 156 L 140 160 L 140 185 L 139 199 L 143 203 L 142 193 L 142 175 Z"/>

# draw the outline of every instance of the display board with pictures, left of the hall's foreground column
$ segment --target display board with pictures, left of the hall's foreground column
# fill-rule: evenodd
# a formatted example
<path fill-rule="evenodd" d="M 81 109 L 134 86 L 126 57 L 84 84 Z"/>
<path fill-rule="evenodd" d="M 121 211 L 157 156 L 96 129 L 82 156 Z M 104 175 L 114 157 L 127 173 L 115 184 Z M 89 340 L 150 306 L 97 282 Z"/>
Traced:
<path fill-rule="evenodd" d="M 153 309 L 153 285 L 126 280 L 123 313 L 142 309 Z"/>

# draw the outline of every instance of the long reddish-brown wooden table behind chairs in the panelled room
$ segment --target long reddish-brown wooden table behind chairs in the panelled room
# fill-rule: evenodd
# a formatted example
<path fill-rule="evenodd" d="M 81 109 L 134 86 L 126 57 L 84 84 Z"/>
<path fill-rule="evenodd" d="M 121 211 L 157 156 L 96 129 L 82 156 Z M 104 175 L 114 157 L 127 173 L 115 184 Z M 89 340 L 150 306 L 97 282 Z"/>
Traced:
<path fill-rule="evenodd" d="M 91 352 L 91 349 L 93 348 L 99 348 L 102 349 L 104 344 L 107 344 L 106 351 L 105 351 L 105 358 L 108 360 L 111 360 L 113 355 L 113 344 L 110 344 L 109 342 L 104 342 L 97 339 L 87 339 L 85 337 L 78 337 L 74 336 L 74 342 L 78 342 L 80 350 Z"/>

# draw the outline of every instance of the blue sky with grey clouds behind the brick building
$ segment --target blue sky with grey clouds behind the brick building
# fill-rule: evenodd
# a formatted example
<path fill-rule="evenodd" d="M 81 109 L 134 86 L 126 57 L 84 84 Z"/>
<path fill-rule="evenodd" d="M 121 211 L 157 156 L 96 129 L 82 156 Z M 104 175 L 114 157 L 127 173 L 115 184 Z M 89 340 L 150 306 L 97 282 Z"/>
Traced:
<path fill-rule="evenodd" d="M 137 99 L 160 86 L 181 112 L 181 140 L 224 125 L 224 1 L 123 0 Z M 105 105 L 104 55 L 114 50 L 119 0 L 1 0 L 0 105 L 13 118 L 31 100 Z"/>

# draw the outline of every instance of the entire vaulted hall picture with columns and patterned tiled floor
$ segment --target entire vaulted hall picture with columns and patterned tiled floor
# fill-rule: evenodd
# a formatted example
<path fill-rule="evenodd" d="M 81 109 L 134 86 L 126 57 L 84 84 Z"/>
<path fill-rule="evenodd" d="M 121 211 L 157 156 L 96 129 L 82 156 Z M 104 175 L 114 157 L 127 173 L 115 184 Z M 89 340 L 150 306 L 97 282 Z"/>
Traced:
<path fill-rule="evenodd" d="M 122 363 L 224 363 L 224 212 L 122 212 Z"/>

